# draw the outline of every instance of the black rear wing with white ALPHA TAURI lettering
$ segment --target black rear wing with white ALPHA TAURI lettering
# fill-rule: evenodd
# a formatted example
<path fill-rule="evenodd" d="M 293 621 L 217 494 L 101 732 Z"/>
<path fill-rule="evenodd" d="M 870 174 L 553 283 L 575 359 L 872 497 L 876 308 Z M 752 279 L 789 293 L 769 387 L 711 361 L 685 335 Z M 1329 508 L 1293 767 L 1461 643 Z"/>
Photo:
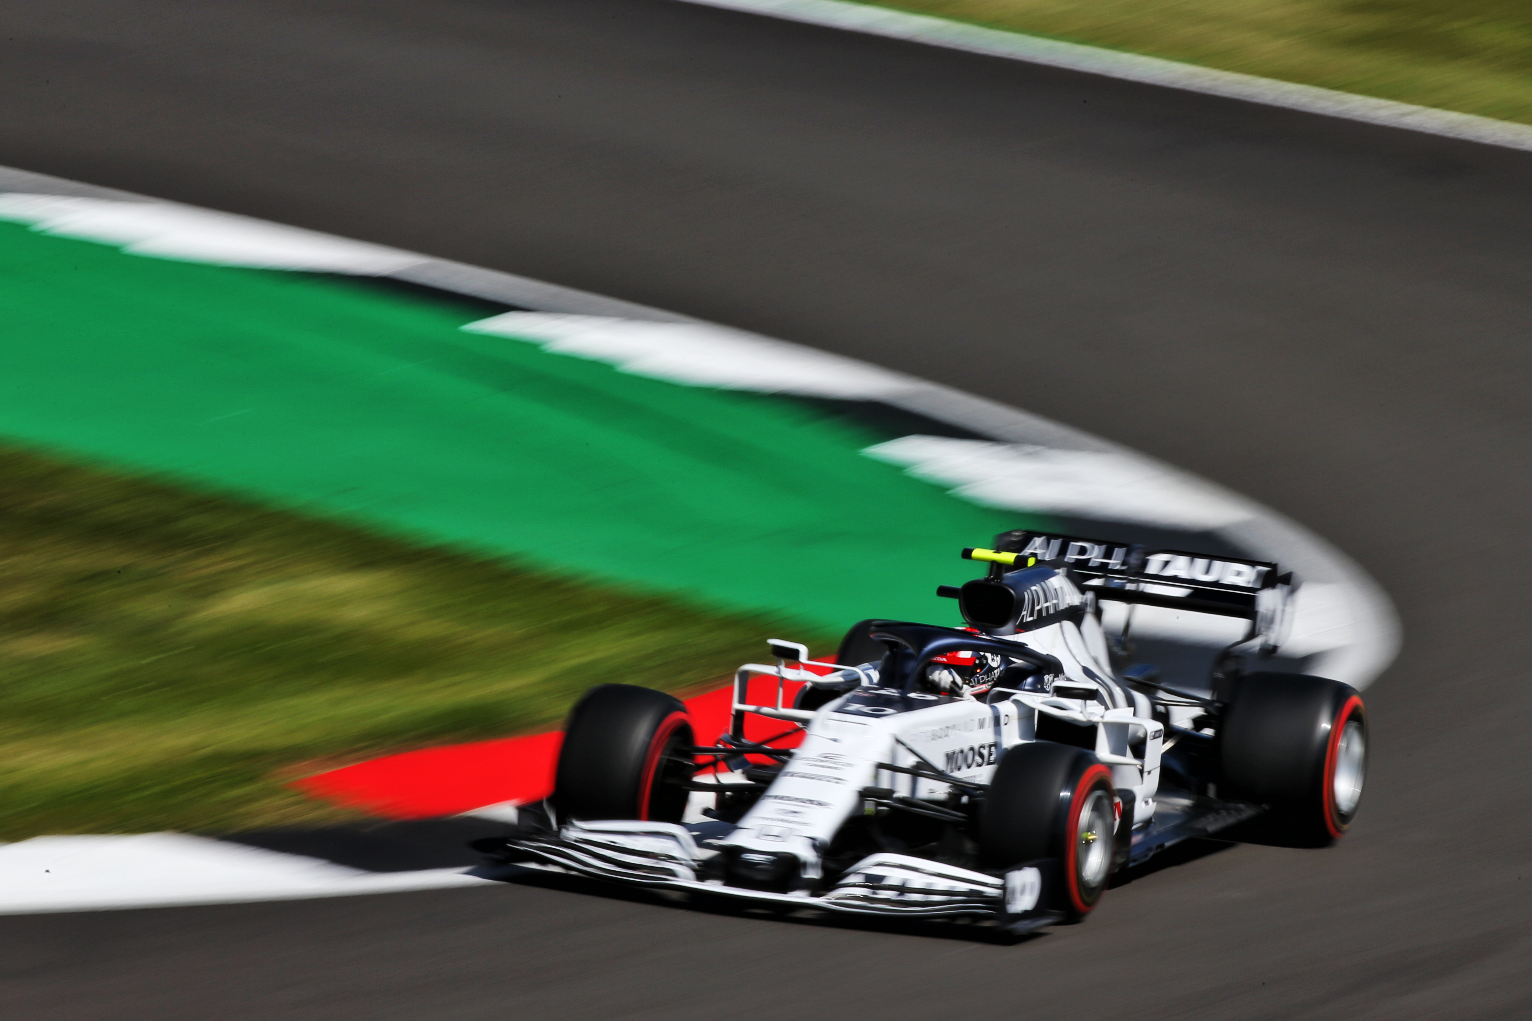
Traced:
<path fill-rule="evenodd" d="M 1253 634 L 1276 629 L 1293 583 L 1291 572 L 1279 574 L 1278 565 L 1267 560 L 1149 550 L 1080 536 L 1008 531 L 996 537 L 996 548 L 1014 553 L 1016 566 L 1031 560 L 1068 568 L 1097 599 L 1242 617 L 1253 623 Z"/>

